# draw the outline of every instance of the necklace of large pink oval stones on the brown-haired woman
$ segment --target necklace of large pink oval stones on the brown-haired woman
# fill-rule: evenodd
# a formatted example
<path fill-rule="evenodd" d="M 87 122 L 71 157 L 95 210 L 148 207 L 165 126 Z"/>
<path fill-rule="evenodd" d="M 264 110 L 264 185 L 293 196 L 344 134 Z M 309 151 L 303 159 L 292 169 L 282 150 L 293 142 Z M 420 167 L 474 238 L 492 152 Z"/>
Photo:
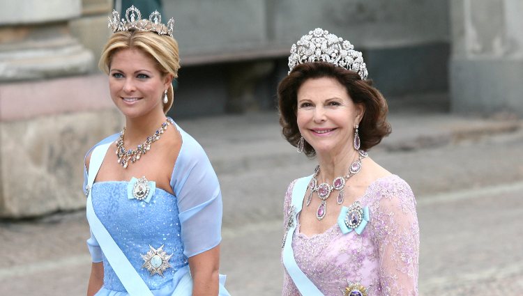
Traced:
<path fill-rule="evenodd" d="M 352 176 L 356 175 L 356 173 L 359 173 L 361 171 L 361 159 L 369 156 L 365 151 L 358 150 L 358 159 L 356 159 L 355 162 L 349 166 L 349 173 L 345 176 L 340 176 L 338 178 L 335 178 L 333 180 L 333 185 L 328 185 L 327 182 L 321 183 L 318 185 L 318 180 L 316 177 L 319 173 L 319 165 L 316 166 L 316 169 L 314 169 L 314 175 L 312 175 L 312 180 L 309 182 L 309 188 L 310 188 L 310 194 L 307 198 L 307 202 L 305 203 L 307 206 L 310 205 L 310 201 L 312 199 L 312 192 L 317 192 L 319 199 L 321 199 L 321 203 L 319 204 L 318 210 L 316 212 L 316 218 L 318 220 L 324 219 L 326 213 L 327 213 L 327 204 L 326 200 L 328 196 L 331 195 L 331 192 L 336 189 L 340 192 L 338 193 L 338 205 L 341 205 L 343 203 L 343 187 L 345 186 L 346 180 L 349 180 Z"/>

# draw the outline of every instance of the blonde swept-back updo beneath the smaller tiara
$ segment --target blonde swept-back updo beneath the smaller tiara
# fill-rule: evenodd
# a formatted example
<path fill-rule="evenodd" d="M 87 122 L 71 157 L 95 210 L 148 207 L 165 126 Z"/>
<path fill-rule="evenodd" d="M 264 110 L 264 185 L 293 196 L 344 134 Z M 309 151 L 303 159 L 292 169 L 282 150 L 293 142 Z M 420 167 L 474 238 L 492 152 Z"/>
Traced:
<path fill-rule="evenodd" d="M 105 74 L 109 74 L 114 54 L 122 49 L 139 49 L 151 57 L 162 75 L 172 74 L 173 78 L 178 77 L 178 70 L 180 69 L 178 42 L 171 36 L 138 30 L 121 31 L 112 34 L 103 48 L 102 56 L 98 63 L 98 67 Z M 172 84 L 167 90 L 167 100 L 167 104 L 163 104 L 165 114 L 171 109 L 174 100 Z"/>

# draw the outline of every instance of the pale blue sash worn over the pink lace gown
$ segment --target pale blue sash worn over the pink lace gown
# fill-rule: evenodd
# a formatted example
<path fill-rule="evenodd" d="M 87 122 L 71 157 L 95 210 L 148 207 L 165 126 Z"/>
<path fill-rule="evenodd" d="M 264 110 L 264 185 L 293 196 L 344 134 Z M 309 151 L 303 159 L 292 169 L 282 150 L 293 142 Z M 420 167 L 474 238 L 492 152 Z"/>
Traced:
<path fill-rule="evenodd" d="M 301 212 L 301 207 L 303 205 L 303 197 L 305 192 L 307 192 L 307 187 L 309 185 L 311 176 L 300 178 L 294 184 L 294 189 L 292 190 L 291 197 L 291 206 L 294 206 L 296 211 L 294 212 L 294 223 L 291 224 L 287 230 L 287 238 L 285 239 L 285 246 L 283 247 L 283 265 L 289 276 L 291 276 L 294 285 L 300 291 L 301 295 L 323 295 L 320 290 L 314 286 L 314 283 L 300 270 L 298 264 L 296 264 L 296 259 L 294 258 L 294 251 L 292 250 L 292 237 L 294 236 L 294 231 L 296 230 L 296 216 Z"/>

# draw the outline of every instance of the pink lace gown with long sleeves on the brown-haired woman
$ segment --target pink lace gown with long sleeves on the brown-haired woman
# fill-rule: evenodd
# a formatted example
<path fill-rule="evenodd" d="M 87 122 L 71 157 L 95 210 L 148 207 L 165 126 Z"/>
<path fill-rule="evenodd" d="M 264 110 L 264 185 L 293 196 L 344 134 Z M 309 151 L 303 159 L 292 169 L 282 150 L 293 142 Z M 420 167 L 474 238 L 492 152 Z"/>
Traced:
<path fill-rule="evenodd" d="M 285 224 L 295 182 L 285 194 Z M 324 295 L 343 295 L 348 283 L 360 283 L 368 296 L 418 295 L 420 240 L 411 188 L 391 175 L 374 181 L 358 201 L 370 210 L 370 222 L 361 235 L 343 234 L 335 224 L 308 237 L 300 233 L 298 215 L 292 240 L 298 267 Z M 282 295 L 300 295 L 287 270 Z"/>

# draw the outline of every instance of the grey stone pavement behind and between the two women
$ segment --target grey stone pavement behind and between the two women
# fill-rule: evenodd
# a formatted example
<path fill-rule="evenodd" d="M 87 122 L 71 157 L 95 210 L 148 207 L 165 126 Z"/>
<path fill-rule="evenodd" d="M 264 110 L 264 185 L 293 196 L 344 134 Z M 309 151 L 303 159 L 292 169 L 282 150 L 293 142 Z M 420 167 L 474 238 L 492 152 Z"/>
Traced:
<path fill-rule="evenodd" d="M 451 115 L 439 104 L 395 107 L 393 134 L 370 155 L 416 194 L 420 295 L 523 295 L 522 121 Z M 178 122 L 220 179 L 221 272 L 233 295 L 280 294 L 282 198 L 314 168 L 282 139 L 277 119 L 265 112 Z M 0 295 L 84 295 L 88 233 L 83 212 L 0 222 Z"/>

